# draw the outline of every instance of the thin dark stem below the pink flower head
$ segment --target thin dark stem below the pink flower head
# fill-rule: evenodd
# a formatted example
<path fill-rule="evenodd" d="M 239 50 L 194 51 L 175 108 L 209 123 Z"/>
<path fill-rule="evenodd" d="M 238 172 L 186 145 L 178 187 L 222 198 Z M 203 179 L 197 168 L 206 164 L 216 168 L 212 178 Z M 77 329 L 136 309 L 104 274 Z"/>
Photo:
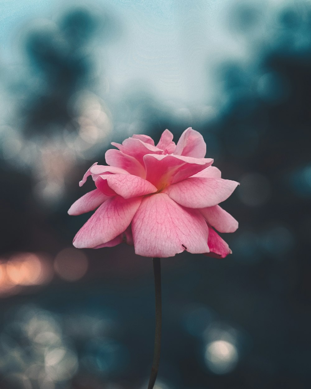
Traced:
<path fill-rule="evenodd" d="M 148 389 L 154 387 L 160 363 L 161 351 L 161 323 L 162 323 L 162 301 L 161 301 L 161 262 L 160 258 L 153 258 L 154 287 L 156 292 L 156 332 L 154 336 L 154 354 L 150 372 Z"/>

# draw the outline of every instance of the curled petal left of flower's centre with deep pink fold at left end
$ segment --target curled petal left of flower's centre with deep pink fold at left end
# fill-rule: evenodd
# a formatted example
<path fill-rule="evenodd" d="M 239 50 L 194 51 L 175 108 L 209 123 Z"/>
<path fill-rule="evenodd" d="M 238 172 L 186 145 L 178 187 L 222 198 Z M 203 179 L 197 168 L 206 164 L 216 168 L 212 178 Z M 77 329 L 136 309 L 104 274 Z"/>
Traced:
<path fill-rule="evenodd" d="M 131 174 L 101 175 L 96 179 L 95 185 L 108 196 L 112 191 L 111 196 L 117 193 L 123 198 L 149 195 L 157 191 L 157 188 L 150 182 Z"/>

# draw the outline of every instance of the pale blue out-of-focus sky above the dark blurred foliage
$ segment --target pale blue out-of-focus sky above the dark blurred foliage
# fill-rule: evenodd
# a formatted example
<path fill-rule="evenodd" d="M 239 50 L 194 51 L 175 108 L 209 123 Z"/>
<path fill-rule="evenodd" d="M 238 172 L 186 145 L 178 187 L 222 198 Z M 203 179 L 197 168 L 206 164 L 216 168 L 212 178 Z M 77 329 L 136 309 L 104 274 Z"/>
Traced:
<path fill-rule="evenodd" d="M 258 11 L 247 34 L 239 33 L 231 14 L 231 7 L 239 3 Z M 133 84 L 146 85 L 161 100 L 195 105 L 215 101 L 214 68 L 219 63 L 234 59 L 247 66 L 254 56 L 253 43 L 256 47 L 259 39 L 265 39 L 267 12 L 273 17 L 273 10 L 284 4 L 284 0 L 264 0 L 264 3 L 97 0 L 66 2 L 66 7 L 86 5 L 95 13 L 106 11 L 116 22 L 115 39 L 97 42 L 96 47 L 97 61 L 105 68 L 103 71 L 100 66 L 99 71 L 105 72 L 112 96 L 117 98 Z M 19 42 L 23 31 L 38 23 L 38 19 L 57 21 L 66 9 L 63 4 L 47 0 L 2 0 L 0 64 L 22 63 Z"/>

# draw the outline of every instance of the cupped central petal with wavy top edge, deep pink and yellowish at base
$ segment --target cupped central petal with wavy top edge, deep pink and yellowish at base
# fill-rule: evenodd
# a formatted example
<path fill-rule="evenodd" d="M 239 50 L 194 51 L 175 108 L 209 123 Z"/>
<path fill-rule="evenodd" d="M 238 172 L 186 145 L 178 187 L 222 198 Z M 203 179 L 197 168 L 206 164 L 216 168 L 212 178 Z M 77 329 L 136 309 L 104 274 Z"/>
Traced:
<path fill-rule="evenodd" d="M 147 154 L 143 160 L 146 166 L 146 180 L 158 189 L 184 180 L 213 163 L 211 158 L 156 154 Z"/>

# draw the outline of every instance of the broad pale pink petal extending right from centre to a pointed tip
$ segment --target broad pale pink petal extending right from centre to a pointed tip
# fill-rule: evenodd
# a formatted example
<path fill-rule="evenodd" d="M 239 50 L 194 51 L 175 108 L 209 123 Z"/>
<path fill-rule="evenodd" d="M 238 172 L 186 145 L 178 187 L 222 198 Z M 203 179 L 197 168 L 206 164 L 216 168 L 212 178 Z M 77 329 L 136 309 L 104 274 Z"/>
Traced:
<path fill-rule="evenodd" d="M 184 207 L 206 208 L 225 201 L 237 186 L 238 182 L 221 178 L 190 177 L 170 185 L 164 192 Z"/>

